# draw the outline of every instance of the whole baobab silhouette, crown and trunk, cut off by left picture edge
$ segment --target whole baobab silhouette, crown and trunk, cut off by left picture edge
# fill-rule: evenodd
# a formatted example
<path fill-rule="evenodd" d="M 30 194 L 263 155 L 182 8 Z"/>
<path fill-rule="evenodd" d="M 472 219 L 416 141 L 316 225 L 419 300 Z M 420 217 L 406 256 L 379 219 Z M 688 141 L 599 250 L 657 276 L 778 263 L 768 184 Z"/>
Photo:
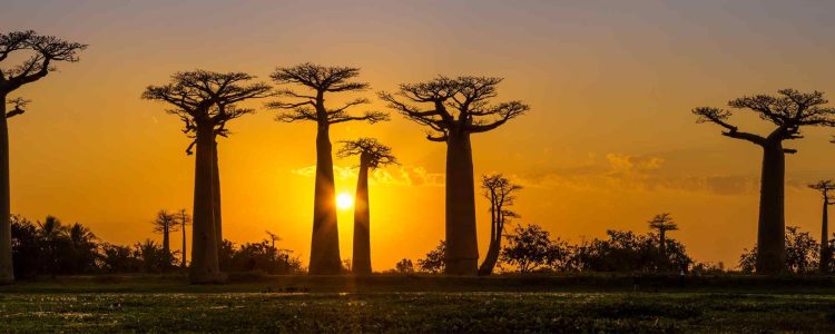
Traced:
<path fill-rule="evenodd" d="M 9 94 L 55 71 L 57 62 L 78 61 L 78 52 L 86 48 L 86 45 L 53 36 L 40 36 L 31 30 L 0 33 L 0 115 L 4 116 L 0 117 L 0 284 L 14 281 L 11 259 L 8 118 L 23 114 L 28 102 L 23 98 L 8 99 Z M 29 58 L 20 63 L 8 65 L 6 61 L 16 52 L 29 55 Z M 7 111 L 7 104 L 14 105 L 14 108 Z"/>

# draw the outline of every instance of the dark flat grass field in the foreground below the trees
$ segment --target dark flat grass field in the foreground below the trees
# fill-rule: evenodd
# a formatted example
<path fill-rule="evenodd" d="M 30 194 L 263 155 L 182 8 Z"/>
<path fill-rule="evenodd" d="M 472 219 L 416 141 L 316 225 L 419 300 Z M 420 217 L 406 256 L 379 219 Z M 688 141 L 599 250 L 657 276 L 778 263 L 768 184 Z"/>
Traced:
<path fill-rule="evenodd" d="M 731 293 L 543 279 L 68 278 L 0 287 L 0 332 L 835 332 L 835 295 L 808 284 Z"/>

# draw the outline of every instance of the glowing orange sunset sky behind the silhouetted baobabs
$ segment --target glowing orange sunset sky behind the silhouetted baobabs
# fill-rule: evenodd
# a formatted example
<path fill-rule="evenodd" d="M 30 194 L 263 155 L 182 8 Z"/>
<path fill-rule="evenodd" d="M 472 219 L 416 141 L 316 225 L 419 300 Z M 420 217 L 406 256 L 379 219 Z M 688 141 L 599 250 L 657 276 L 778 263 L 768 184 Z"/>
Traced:
<path fill-rule="evenodd" d="M 532 110 L 475 135 L 474 161 L 477 175 L 502 171 L 527 187 L 519 222 L 579 240 L 607 228 L 646 232 L 646 220 L 669 212 L 681 228 L 672 236 L 692 256 L 726 264 L 755 240 L 760 151 L 696 125 L 689 110 L 788 87 L 835 99 L 835 3 L 825 1 L 6 0 L 0 9 L 0 31 L 90 45 L 81 62 L 14 95 L 33 102 L 10 120 L 12 212 L 81 222 L 115 243 L 158 238 L 149 224 L 158 209 L 190 209 L 194 160 L 181 125 L 139 99 L 179 70 L 266 79 L 304 61 L 357 66 L 369 98 L 439 73 L 504 77 L 498 100 Z M 250 106 L 258 114 L 230 124 L 219 147 L 224 232 L 240 243 L 269 229 L 306 264 L 314 126 Z M 372 180 L 375 269 L 419 258 L 443 237 L 445 147 L 392 118 L 331 135 L 377 137 L 403 164 Z M 750 116 L 734 121 L 768 128 Z M 821 204 L 804 185 L 835 177 L 835 131 L 804 132 L 789 144 L 799 154 L 787 159 L 787 224 L 817 237 Z M 337 191 L 353 194 L 356 161 L 336 164 Z M 478 205 L 483 253 L 489 215 Z M 351 225 L 341 212 L 343 258 Z"/>

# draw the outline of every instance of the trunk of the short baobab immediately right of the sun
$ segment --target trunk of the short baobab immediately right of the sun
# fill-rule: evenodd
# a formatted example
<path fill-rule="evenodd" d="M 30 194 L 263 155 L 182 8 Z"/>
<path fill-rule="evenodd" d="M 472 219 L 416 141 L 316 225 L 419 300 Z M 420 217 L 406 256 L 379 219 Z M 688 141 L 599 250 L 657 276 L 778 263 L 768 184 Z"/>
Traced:
<path fill-rule="evenodd" d="M 369 163 L 360 158 L 360 175 L 354 198 L 354 254 L 351 267 L 354 274 L 371 274 L 371 215 L 369 210 Z"/>

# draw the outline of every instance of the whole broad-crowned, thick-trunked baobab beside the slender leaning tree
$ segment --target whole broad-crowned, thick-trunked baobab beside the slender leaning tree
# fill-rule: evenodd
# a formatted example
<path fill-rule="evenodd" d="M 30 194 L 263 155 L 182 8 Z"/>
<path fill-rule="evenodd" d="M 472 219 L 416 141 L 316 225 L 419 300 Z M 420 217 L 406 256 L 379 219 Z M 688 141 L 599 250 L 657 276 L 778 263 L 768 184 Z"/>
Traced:
<path fill-rule="evenodd" d="M 446 144 L 446 274 L 478 272 L 470 135 L 493 130 L 529 110 L 521 101 L 490 104 L 501 81 L 491 77 L 442 76 L 426 82 L 400 85 L 396 94 L 380 92 L 389 107 L 429 127 L 426 139 Z"/>

